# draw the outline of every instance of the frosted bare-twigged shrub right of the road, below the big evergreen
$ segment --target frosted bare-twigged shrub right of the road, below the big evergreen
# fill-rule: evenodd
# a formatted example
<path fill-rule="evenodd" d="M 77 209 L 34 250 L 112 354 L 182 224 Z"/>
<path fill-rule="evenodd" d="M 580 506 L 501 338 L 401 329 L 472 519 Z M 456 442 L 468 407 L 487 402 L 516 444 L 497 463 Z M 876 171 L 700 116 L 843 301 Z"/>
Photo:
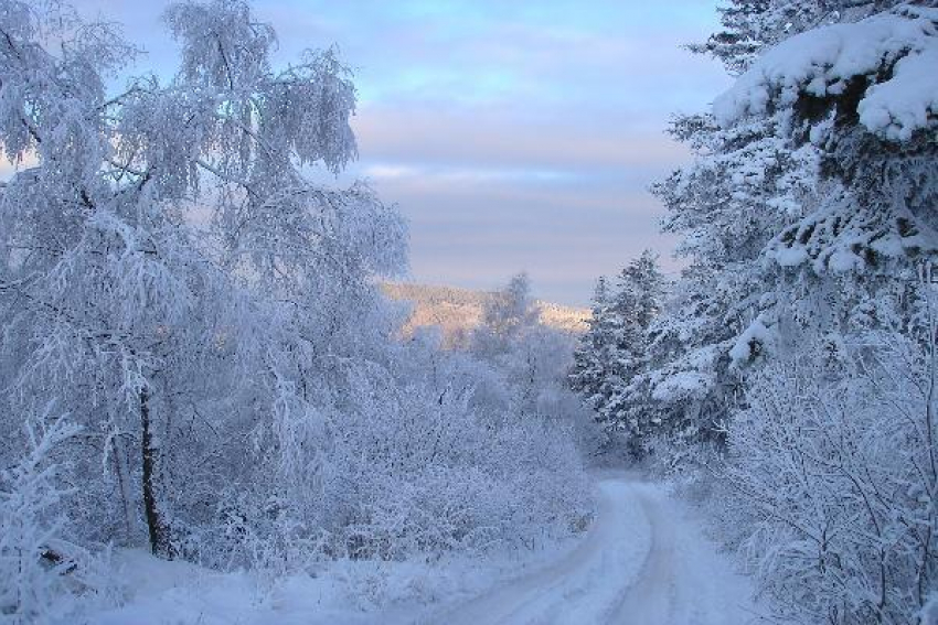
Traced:
<path fill-rule="evenodd" d="M 938 590 L 934 337 L 830 345 L 753 380 L 728 432 L 724 527 L 788 616 L 917 623 Z"/>

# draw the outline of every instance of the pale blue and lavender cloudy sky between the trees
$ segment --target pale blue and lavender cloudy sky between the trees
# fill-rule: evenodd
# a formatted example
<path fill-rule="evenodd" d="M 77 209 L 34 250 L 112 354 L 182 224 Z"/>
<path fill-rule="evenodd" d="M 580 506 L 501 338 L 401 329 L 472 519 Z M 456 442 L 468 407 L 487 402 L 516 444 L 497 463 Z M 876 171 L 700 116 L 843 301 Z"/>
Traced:
<path fill-rule="evenodd" d="M 170 76 L 162 0 L 77 0 L 124 24 L 132 71 Z M 686 162 L 664 133 L 728 87 L 683 44 L 716 29 L 715 0 L 256 0 L 286 65 L 335 45 L 355 74 L 359 160 L 411 228 L 415 282 L 492 289 L 527 271 L 535 294 L 584 305 L 598 276 L 643 249 L 673 271 L 649 193 Z"/>

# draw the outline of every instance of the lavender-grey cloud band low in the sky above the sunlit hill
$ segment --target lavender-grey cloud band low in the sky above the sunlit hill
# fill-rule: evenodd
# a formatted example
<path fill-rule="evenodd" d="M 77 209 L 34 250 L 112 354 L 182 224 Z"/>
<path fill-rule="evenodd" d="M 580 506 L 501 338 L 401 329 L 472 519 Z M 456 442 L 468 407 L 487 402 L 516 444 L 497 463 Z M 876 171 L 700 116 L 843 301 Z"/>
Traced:
<path fill-rule="evenodd" d="M 433 170 L 373 181 L 411 222 L 413 277 L 433 283 L 493 288 L 519 270 L 537 293 L 585 303 L 600 273 L 616 273 L 642 249 L 664 255 L 662 207 L 638 177 L 482 180 L 459 183 Z"/>

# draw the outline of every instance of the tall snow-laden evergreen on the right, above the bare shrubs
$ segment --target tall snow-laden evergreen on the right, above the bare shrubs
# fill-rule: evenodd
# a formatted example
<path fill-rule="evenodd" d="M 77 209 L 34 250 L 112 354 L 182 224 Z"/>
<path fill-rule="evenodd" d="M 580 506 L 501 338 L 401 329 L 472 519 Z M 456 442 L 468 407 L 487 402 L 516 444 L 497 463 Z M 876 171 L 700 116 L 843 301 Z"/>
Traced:
<path fill-rule="evenodd" d="M 655 190 L 691 259 L 651 344 L 653 394 L 685 438 L 718 442 L 744 369 L 802 333 L 907 315 L 904 284 L 934 249 L 935 152 L 928 130 L 899 128 L 928 119 L 932 87 L 899 89 L 928 63 L 934 9 L 894 4 L 737 2 L 735 34 L 710 42 L 744 73 L 714 115 L 675 121 L 696 159 Z"/>

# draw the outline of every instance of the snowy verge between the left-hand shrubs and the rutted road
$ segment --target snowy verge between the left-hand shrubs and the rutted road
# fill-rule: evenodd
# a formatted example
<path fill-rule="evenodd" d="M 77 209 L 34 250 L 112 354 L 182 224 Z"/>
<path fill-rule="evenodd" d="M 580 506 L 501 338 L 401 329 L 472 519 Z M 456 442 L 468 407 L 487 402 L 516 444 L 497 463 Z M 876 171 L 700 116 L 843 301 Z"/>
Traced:
<path fill-rule="evenodd" d="M 535 550 L 428 562 L 340 560 L 313 574 L 269 578 L 222 573 L 147 552 L 115 557 L 118 607 L 88 610 L 86 625 L 404 625 L 439 605 L 467 601 L 490 588 L 563 559 L 579 539 L 546 541 Z M 71 625 L 74 618 L 51 622 Z M 431 622 L 431 621 L 430 621 Z"/>

